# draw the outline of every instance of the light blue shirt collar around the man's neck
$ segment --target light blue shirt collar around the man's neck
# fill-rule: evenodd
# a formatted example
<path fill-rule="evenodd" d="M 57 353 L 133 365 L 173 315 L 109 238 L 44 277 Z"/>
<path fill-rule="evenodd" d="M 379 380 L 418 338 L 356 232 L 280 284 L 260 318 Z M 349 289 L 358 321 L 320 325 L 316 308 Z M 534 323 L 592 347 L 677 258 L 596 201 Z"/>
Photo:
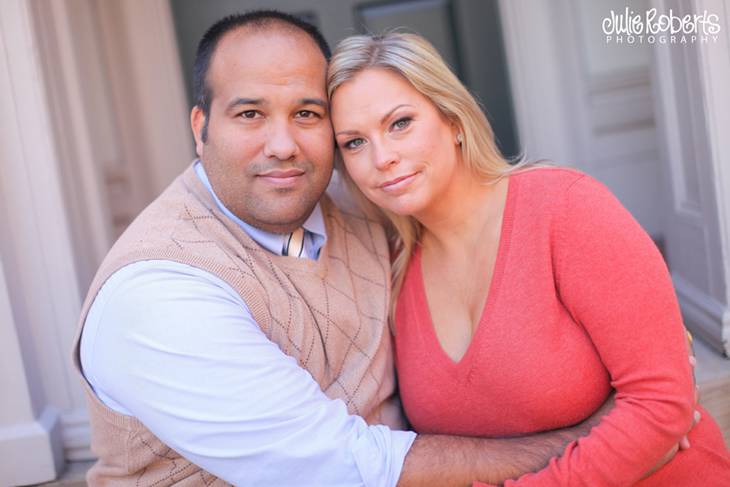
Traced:
<path fill-rule="evenodd" d="M 195 169 L 195 174 L 208 189 L 211 196 L 213 196 L 215 204 L 224 215 L 233 220 L 236 225 L 241 227 L 243 231 L 246 232 L 257 244 L 269 252 L 281 255 L 286 235 L 261 230 L 260 228 L 256 228 L 238 218 L 223 205 L 220 199 L 218 199 L 218 195 L 216 195 L 215 191 L 213 191 L 213 186 L 211 186 L 210 181 L 208 180 L 208 175 L 205 173 L 205 169 L 203 168 L 203 164 L 200 162 L 200 159 L 193 163 L 193 168 Z M 304 237 L 304 250 L 310 259 L 316 259 L 319 256 L 320 249 L 327 241 L 327 231 L 324 224 L 324 217 L 322 215 L 322 207 L 319 202 L 317 202 L 317 205 L 314 207 L 314 210 L 312 210 L 312 213 L 306 219 L 302 227 L 304 227 L 307 231 L 305 232 Z"/>

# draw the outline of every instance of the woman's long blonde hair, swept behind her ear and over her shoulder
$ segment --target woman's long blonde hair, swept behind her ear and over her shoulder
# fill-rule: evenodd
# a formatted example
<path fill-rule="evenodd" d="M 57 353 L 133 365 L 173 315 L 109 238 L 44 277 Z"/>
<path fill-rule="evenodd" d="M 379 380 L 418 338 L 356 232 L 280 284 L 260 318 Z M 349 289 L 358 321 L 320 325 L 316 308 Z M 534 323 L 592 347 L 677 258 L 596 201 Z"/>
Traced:
<path fill-rule="evenodd" d="M 358 35 L 339 43 L 330 60 L 327 72 L 327 94 L 358 73 L 368 68 L 391 70 L 431 100 L 439 111 L 461 132 L 461 159 L 475 177 L 485 182 L 501 179 L 521 168 L 524 161 L 511 165 L 499 152 L 494 132 L 479 103 L 439 55 L 423 37 L 416 34 L 391 32 L 382 36 Z M 344 165 L 337 156 L 338 167 Z M 393 248 L 397 257 L 393 261 L 393 290 L 391 294 L 391 324 L 395 323 L 395 303 L 400 292 L 411 254 L 421 237 L 422 227 L 411 216 L 396 215 L 369 202 L 347 174 L 343 177 L 353 196 L 371 216 L 385 217 L 390 224 Z M 393 235 L 393 231 L 395 235 Z"/>

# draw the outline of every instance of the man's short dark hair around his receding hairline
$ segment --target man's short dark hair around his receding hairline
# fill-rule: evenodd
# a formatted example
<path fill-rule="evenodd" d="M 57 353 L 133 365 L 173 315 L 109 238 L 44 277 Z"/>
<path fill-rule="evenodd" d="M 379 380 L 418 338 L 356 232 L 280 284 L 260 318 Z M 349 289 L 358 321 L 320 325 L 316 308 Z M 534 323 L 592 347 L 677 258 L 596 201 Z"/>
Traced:
<path fill-rule="evenodd" d="M 210 104 L 213 99 L 213 90 L 207 80 L 208 68 L 210 68 L 210 60 L 213 58 L 213 53 L 218 46 L 218 42 L 228 32 L 244 26 L 265 28 L 277 24 L 299 29 L 307 34 L 317 44 L 325 60 L 329 62 L 332 53 L 322 32 L 316 26 L 294 15 L 278 10 L 252 10 L 243 14 L 234 14 L 222 18 L 213 24 L 203 35 L 202 39 L 200 39 L 198 50 L 195 54 L 195 65 L 193 66 L 193 97 L 195 99 L 195 105 L 205 115 L 205 123 L 201 132 L 203 142 L 208 138 L 208 119 L 210 118 Z M 276 61 L 272 59 L 272 62 Z"/>

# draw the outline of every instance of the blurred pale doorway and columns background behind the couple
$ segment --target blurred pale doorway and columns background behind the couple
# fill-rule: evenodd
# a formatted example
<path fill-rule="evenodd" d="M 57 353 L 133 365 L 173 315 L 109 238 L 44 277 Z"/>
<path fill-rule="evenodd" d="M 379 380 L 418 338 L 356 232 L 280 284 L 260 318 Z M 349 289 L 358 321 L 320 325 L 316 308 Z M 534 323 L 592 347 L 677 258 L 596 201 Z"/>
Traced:
<path fill-rule="evenodd" d="M 421 33 L 506 155 L 606 183 L 665 256 L 702 402 L 730 439 L 730 0 L 0 0 L 0 485 L 82 485 L 81 303 L 116 237 L 195 156 L 199 38 L 252 8 L 309 20 L 333 47 Z M 608 39 L 604 19 L 626 8 L 706 11 L 720 30 Z"/>

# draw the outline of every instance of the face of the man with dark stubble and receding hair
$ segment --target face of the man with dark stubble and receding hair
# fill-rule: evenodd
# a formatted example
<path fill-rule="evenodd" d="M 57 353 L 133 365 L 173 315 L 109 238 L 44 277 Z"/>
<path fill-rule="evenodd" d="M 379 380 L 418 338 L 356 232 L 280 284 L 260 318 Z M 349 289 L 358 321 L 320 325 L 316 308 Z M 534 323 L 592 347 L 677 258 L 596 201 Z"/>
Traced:
<path fill-rule="evenodd" d="M 300 226 L 332 175 L 327 65 L 303 32 L 240 28 L 219 41 L 208 70 L 205 117 L 193 108 L 196 151 L 216 195 L 270 232 Z"/>

